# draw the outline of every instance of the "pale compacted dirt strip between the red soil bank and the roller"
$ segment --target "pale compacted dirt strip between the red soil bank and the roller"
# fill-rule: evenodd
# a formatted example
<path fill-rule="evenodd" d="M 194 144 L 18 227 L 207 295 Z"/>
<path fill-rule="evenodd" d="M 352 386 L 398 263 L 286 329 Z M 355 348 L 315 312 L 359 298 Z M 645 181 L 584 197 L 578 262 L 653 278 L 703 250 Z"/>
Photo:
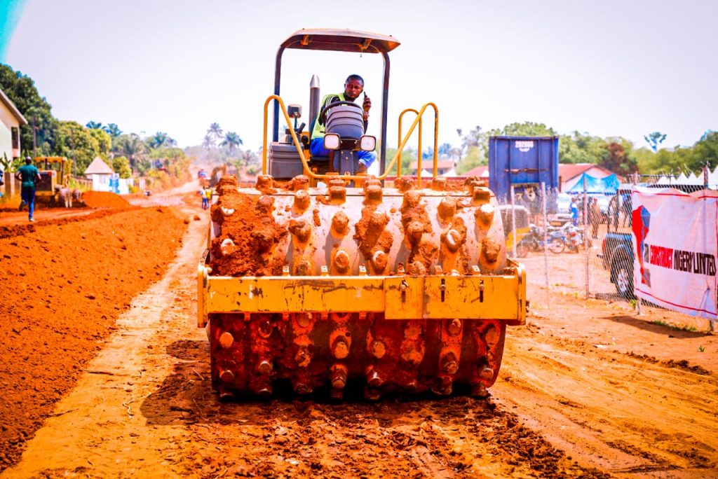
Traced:
<path fill-rule="evenodd" d="M 190 222 L 189 227 L 177 260 L 162 280 L 133 301 L 73 392 L 57 404 L 54 417 L 28 443 L 22 461 L 1 477 L 177 473 L 172 459 L 180 457 L 184 429 L 146 427 L 139 409 L 172 371 L 163 344 L 178 333 L 200 333 L 185 324 L 195 285 L 188 267 L 196 268 L 206 222 Z M 182 326 L 180 331 L 177 326 Z"/>

